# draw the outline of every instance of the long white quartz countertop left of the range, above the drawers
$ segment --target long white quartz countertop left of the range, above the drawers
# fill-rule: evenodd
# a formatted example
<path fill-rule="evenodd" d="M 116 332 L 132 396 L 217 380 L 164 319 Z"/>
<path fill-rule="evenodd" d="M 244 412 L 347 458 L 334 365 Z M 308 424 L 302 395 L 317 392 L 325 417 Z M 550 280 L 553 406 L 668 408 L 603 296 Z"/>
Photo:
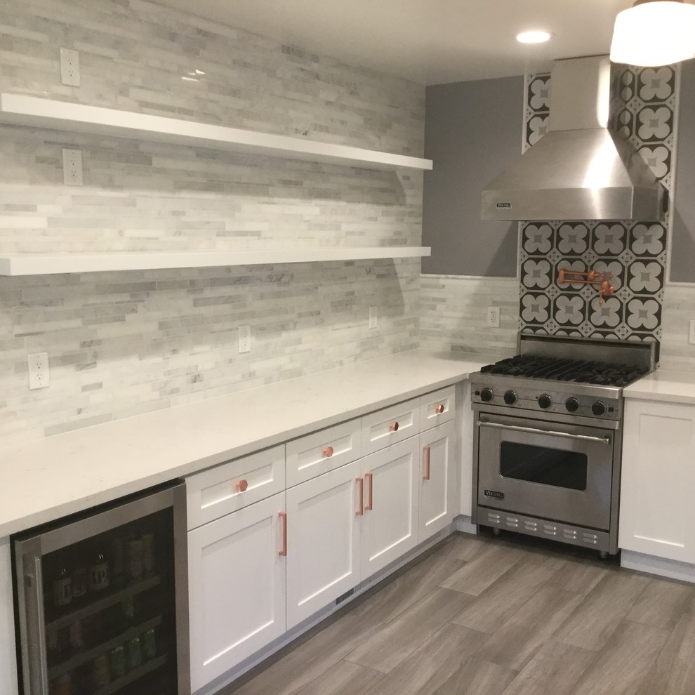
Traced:
<path fill-rule="evenodd" d="M 494 359 L 402 352 L 0 449 L 0 538 L 443 388 Z"/>

